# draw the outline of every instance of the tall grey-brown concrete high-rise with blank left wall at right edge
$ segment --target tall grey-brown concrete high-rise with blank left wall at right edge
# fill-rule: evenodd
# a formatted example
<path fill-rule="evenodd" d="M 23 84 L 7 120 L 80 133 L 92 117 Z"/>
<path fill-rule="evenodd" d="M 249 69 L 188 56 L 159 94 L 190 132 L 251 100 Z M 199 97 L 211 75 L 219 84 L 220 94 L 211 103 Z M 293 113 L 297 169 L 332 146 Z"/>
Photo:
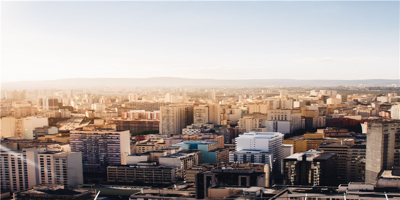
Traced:
<path fill-rule="evenodd" d="M 378 173 L 400 166 L 400 120 L 367 122 L 365 181 L 374 182 Z"/>

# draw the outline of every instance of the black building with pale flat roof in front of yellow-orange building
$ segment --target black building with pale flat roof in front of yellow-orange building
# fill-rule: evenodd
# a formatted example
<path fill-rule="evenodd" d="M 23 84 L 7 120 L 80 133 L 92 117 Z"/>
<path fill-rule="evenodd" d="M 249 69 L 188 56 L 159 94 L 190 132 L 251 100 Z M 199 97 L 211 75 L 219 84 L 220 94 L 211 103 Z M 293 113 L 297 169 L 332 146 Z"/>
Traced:
<path fill-rule="evenodd" d="M 334 153 L 294 153 L 282 160 L 283 184 L 336 186 L 336 167 Z"/>

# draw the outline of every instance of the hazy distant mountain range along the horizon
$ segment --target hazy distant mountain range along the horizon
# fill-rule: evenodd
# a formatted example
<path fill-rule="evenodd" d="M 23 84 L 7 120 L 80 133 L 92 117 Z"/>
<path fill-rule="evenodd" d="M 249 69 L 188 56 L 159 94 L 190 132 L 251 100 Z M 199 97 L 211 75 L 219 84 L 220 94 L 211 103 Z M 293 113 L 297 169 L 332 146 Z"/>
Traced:
<path fill-rule="evenodd" d="M 363 79 L 363 80 L 297 80 L 297 79 L 195 79 L 178 77 L 151 78 L 66 78 L 57 80 L 35 80 L 2 82 L 1 89 L 33 88 L 90 88 L 107 87 L 147 87 L 147 86 L 337 86 L 337 85 L 383 85 L 400 84 L 399 79 Z"/>

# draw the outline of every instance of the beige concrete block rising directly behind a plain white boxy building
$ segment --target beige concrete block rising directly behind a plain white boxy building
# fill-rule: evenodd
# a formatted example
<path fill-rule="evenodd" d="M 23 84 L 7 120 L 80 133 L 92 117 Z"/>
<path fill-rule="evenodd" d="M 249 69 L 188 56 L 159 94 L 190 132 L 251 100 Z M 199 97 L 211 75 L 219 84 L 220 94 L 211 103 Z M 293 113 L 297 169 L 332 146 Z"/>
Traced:
<path fill-rule="evenodd" d="M 272 109 L 267 110 L 268 120 L 290 121 L 290 133 L 300 129 L 300 109 Z"/>

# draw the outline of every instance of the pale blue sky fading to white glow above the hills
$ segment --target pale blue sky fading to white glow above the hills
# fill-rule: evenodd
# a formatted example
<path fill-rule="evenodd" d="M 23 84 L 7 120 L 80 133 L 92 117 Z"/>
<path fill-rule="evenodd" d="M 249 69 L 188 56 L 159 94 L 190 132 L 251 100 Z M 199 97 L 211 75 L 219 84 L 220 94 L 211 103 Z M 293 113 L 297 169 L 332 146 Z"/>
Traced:
<path fill-rule="evenodd" d="M 1 82 L 398 79 L 399 1 L 1 1 Z"/>

